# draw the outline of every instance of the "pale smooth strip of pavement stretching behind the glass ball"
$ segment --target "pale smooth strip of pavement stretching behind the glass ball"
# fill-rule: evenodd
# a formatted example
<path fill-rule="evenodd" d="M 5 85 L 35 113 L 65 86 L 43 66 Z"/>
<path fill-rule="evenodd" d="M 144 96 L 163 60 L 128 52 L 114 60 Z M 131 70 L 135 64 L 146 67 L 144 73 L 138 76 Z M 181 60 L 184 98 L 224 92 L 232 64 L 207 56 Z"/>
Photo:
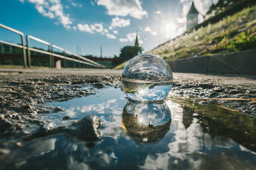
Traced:
<path fill-rule="evenodd" d="M 0 74 L 58 74 L 58 75 L 90 75 L 90 76 L 121 76 L 122 69 L 6 69 L 0 68 Z M 173 73 L 175 80 L 212 81 L 220 85 L 256 85 L 256 76 L 213 75 L 194 73 Z"/>

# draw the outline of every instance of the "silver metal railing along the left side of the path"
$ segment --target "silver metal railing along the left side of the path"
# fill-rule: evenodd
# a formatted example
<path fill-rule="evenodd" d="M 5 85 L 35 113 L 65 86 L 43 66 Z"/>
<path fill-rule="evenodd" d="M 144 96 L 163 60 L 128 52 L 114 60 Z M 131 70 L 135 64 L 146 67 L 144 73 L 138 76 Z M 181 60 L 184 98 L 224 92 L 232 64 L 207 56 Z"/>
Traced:
<path fill-rule="evenodd" d="M 38 52 L 38 53 L 44 53 L 46 55 L 49 55 L 49 67 L 54 67 L 54 57 L 58 57 L 60 59 L 64 59 L 64 65 L 66 66 L 66 60 L 71 60 L 73 61 L 73 67 L 74 67 L 74 62 L 78 62 L 78 63 L 81 63 L 81 64 L 86 64 L 86 65 L 90 65 L 90 66 L 95 66 L 95 67 L 105 67 L 105 66 L 102 66 L 101 64 L 97 63 L 97 62 L 94 62 L 93 60 L 90 60 L 90 59 L 86 59 L 85 57 L 82 57 L 80 55 L 76 55 L 72 52 L 68 52 L 67 50 L 59 47 L 59 46 L 56 46 L 56 45 L 51 45 L 50 43 L 42 40 L 42 39 L 39 39 L 39 38 L 35 38 L 33 36 L 26 36 L 26 43 L 27 43 L 27 46 L 24 45 L 24 34 L 20 31 L 17 31 L 15 29 L 12 29 L 11 27 L 8 27 L 6 25 L 3 25 L 3 24 L 0 24 L 0 27 L 4 28 L 4 29 L 7 29 L 9 31 L 12 31 L 12 32 L 15 32 L 17 34 L 20 34 L 20 37 L 21 37 L 21 45 L 17 45 L 15 43 L 10 43 L 10 42 L 7 42 L 7 41 L 3 41 L 3 40 L 0 40 L 0 43 L 3 43 L 3 44 L 6 44 L 6 45 L 11 45 L 11 46 L 16 46 L 18 48 L 22 48 L 22 57 L 23 57 L 23 66 L 24 67 L 30 67 L 31 66 L 31 54 L 30 54 L 30 51 L 34 51 L 34 52 Z M 40 43 L 43 43 L 45 45 L 48 46 L 48 51 L 45 51 L 45 50 L 39 50 L 39 49 L 36 49 L 36 48 L 31 48 L 29 47 L 29 39 L 33 39 L 35 41 L 38 41 Z M 56 48 L 58 50 L 61 50 L 63 52 L 63 55 L 60 55 L 60 54 L 57 54 L 57 53 L 54 53 L 52 52 L 52 49 L 53 48 Z M 26 50 L 28 51 L 28 63 L 27 63 L 27 57 L 26 57 Z M 72 58 L 68 57 L 67 55 L 71 55 Z"/>

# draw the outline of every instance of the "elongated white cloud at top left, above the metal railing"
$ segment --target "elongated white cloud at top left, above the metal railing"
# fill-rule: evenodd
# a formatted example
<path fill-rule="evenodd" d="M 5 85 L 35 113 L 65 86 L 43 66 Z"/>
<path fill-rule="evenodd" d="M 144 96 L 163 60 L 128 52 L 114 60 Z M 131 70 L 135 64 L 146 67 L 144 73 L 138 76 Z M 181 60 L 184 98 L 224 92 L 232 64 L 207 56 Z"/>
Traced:
<path fill-rule="evenodd" d="M 49 18 L 58 18 L 58 21 L 63 25 L 63 27 L 70 29 L 72 24 L 72 19 L 69 14 L 63 12 L 63 6 L 60 0 L 28 0 L 30 3 L 36 5 L 36 10 Z"/>

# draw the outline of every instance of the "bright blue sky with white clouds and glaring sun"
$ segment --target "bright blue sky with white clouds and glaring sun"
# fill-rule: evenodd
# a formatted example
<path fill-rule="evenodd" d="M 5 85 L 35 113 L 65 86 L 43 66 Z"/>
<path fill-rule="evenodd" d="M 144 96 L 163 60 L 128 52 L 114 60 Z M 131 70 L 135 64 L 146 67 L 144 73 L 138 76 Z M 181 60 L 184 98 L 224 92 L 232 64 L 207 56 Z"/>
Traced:
<path fill-rule="evenodd" d="M 217 0 L 213 0 L 216 3 Z M 147 52 L 186 29 L 192 0 L 1 0 L 0 24 L 81 55 L 114 57 L 123 46 Z M 194 0 L 199 22 L 212 0 Z M 20 43 L 0 28 L 0 39 Z M 31 41 L 30 46 L 46 48 Z M 78 48 L 78 49 L 79 49 Z M 78 50 L 79 52 L 79 50 Z"/>

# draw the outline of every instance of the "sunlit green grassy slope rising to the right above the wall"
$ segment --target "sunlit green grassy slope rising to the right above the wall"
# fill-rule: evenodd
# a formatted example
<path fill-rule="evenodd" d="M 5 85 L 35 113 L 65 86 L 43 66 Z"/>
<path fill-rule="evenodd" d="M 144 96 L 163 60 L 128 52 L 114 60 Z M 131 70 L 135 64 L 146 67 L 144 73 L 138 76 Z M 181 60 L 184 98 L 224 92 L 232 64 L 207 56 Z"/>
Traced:
<path fill-rule="evenodd" d="M 165 60 L 237 52 L 256 48 L 256 6 L 246 8 L 216 24 L 170 39 L 147 53 Z M 121 69 L 125 63 L 116 66 Z"/>

